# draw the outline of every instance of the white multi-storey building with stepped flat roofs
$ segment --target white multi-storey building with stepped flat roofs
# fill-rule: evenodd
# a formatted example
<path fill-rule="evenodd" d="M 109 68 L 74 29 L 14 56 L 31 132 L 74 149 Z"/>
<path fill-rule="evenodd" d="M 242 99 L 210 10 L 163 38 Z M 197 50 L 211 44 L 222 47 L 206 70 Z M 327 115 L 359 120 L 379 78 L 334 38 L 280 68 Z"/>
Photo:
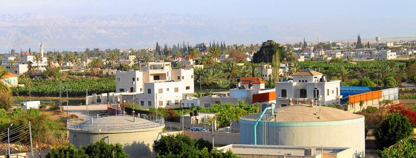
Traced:
<path fill-rule="evenodd" d="M 193 94 L 193 68 L 171 69 L 170 62 L 140 63 L 140 70 L 116 71 L 117 93 L 135 93 L 142 107 L 179 107 Z"/>

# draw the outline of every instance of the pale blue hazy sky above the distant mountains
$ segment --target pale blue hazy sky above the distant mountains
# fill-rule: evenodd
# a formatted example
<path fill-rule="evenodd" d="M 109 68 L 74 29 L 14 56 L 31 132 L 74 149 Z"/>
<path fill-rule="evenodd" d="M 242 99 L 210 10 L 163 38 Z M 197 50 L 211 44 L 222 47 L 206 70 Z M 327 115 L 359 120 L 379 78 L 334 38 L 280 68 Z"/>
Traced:
<path fill-rule="evenodd" d="M 416 0 L 0 0 L 0 15 L 201 15 L 259 24 L 277 22 L 285 28 L 302 26 L 313 32 L 313 38 L 352 40 L 358 33 L 362 39 L 416 37 L 415 6 Z M 295 42 L 304 36 L 280 42 Z"/>

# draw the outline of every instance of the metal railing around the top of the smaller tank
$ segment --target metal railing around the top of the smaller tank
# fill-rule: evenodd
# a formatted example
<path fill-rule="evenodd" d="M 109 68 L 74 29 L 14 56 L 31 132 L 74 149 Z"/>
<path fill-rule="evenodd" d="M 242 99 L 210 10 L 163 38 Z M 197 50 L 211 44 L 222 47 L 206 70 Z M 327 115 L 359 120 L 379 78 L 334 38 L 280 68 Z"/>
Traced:
<path fill-rule="evenodd" d="M 129 116 L 129 115 L 118 115 L 118 116 L 98 116 L 98 118 L 103 117 L 122 117 L 122 116 Z M 133 120 L 133 116 L 129 116 Z M 75 130 L 131 130 L 131 129 L 146 129 L 146 128 L 154 128 L 159 126 L 164 126 L 164 119 L 161 116 L 146 116 L 145 118 L 135 118 L 135 119 L 145 119 L 150 122 L 133 122 L 133 123 L 106 123 L 106 124 L 95 124 L 92 123 L 94 120 L 97 119 L 96 116 L 94 117 L 83 117 L 83 118 L 76 118 L 70 119 L 66 121 L 66 128 L 67 129 L 75 129 Z M 93 121 L 91 121 L 93 120 Z"/>

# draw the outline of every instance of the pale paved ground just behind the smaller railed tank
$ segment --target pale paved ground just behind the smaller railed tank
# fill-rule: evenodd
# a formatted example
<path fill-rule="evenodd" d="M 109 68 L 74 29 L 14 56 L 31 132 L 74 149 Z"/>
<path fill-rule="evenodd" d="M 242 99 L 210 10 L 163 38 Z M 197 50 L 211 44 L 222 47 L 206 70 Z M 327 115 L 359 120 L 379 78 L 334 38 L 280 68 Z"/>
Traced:
<path fill-rule="evenodd" d="M 107 104 L 92 104 L 92 105 L 81 105 L 81 106 L 66 106 L 64 107 L 64 113 L 66 114 L 67 110 L 69 110 L 69 115 L 75 114 L 78 117 L 86 117 L 87 116 L 87 107 L 89 116 L 96 116 L 96 114 L 100 114 L 107 111 Z M 66 116 L 66 115 L 65 115 Z"/>

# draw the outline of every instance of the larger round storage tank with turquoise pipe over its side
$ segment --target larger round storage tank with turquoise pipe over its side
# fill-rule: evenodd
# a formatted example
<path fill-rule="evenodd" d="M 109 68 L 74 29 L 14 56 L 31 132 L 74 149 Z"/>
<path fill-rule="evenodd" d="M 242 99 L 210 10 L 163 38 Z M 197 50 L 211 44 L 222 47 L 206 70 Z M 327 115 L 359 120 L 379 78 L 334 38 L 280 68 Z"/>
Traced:
<path fill-rule="evenodd" d="M 242 144 L 255 144 L 259 116 L 240 117 Z M 273 115 L 268 110 L 257 124 L 256 144 L 349 147 L 356 151 L 352 157 L 364 157 L 364 116 L 306 104 L 278 107 Z"/>

